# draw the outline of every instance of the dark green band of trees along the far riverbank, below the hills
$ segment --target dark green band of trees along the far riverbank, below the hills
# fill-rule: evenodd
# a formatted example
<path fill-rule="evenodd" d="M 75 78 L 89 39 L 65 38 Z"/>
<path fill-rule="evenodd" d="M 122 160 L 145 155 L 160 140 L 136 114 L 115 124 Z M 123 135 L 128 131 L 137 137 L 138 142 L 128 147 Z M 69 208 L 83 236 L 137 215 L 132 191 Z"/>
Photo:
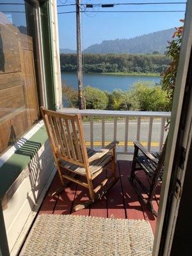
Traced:
<path fill-rule="evenodd" d="M 60 54 L 61 71 L 77 71 L 76 54 Z M 156 73 L 168 68 L 170 60 L 163 54 L 83 54 L 84 72 Z"/>

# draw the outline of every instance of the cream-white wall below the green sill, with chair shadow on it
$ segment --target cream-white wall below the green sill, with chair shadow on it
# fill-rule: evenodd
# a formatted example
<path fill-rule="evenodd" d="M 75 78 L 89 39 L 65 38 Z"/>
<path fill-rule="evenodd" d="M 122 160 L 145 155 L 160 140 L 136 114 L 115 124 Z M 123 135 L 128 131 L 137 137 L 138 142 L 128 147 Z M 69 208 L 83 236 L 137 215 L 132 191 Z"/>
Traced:
<path fill-rule="evenodd" d="M 28 175 L 22 180 L 3 211 L 8 246 L 12 256 L 19 250 L 54 177 L 54 161 L 48 140 L 23 172 Z"/>

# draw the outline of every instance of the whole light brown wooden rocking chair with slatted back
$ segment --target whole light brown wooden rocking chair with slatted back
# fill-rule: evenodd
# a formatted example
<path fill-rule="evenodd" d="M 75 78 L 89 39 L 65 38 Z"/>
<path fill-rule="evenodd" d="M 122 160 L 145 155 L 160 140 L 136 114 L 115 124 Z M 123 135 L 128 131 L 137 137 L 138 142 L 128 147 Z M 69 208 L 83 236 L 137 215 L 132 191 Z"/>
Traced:
<path fill-rule="evenodd" d="M 116 180 L 115 148 L 118 141 L 109 143 L 99 152 L 85 147 L 81 115 L 70 115 L 40 108 L 49 136 L 52 154 L 58 170 L 62 190 L 66 180 L 76 182 L 88 189 L 90 200 L 76 205 L 75 211 L 88 207 L 104 195 Z M 110 170 L 111 175 L 104 179 L 97 188 L 93 188 L 93 180 L 103 171 Z M 86 182 L 82 181 L 84 177 Z M 107 184 L 111 180 L 110 184 Z M 106 189 L 103 189 L 106 185 Z M 102 189 L 102 193 L 100 190 Z M 58 189 L 61 191 L 61 189 Z"/>

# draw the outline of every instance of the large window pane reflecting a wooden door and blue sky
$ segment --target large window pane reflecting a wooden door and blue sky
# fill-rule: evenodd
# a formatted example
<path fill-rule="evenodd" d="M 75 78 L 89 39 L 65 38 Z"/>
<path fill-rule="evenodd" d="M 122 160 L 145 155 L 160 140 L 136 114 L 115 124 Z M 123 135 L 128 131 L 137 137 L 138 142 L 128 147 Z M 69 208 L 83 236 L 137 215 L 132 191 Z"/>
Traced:
<path fill-rule="evenodd" d="M 0 154 L 39 119 L 34 28 L 32 1 L 0 0 Z"/>

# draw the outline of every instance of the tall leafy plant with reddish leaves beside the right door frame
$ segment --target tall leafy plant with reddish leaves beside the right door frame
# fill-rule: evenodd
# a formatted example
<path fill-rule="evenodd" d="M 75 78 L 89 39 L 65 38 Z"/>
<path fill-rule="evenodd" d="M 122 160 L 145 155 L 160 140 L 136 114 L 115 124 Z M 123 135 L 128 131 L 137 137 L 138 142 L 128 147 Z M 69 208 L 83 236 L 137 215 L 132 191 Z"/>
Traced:
<path fill-rule="evenodd" d="M 180 22 L 184 22 L 184 20 L 180 20 Z M 179 65 L 180 44 L 182 40 L 184 26 L 180 26 L 179 28 L 175 29 L 176 31 L 172 36 L 172 38 L 174 39 L 169 42 L 166 52 L 166 56 L 171 59 L 171 63 L 166 72 L 164 72 L 161 82 L 163 90 L 166 91 L 168 99 L 170 99 L 170 109 L 172 107 L 175 80 L 177 76 L 177 68 Z"/>

